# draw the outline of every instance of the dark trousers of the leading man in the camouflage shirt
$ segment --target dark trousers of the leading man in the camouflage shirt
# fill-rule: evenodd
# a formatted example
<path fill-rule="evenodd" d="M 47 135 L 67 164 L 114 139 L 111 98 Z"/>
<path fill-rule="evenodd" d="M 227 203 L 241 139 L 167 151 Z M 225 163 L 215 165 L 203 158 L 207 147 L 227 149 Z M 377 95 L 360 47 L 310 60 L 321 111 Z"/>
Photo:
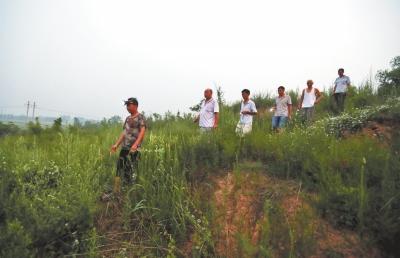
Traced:
<path fill-rule="evenodd" d="M 129 150 L 122 149 L 117 162 L 117 176 L 123 184 L 132 184 L 137 176 L 140 153 L 138 151 L 129 153 Z"/>

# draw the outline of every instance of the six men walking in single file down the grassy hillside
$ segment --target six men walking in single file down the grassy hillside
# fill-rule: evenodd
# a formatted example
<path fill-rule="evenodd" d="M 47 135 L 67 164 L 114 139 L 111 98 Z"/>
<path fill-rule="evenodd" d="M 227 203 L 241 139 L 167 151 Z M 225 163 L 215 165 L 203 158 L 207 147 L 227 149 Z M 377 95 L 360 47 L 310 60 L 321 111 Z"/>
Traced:
<path fill-rule="evenodd" d="M 344 69 L 338 70 L 338 77 L 335 80 L 333 88 L 333 97 L 339 112 L 344 110 L 346 93 L 350 87 L 350 78 L 344 75 Z M 212 89 L 204 91 L 204 99 L 201 102 L 199 114 L 194 122 L 198 123 L 200 131 L 211 132 L 218 127 L 219 123 L 219 104 L 213 97 Z M 302 90 L 297 109 L 302 112 L 303 121 L 310 123 L 313 120 L 315 105 L 320 103 L 323 93 L 314 87 L 312 80 L 307 81 L 307 87 Z M 116 152 L 121 146 L 119 159 L 117 163 L 117 176 L 123 177 L 124 182 L 130 183 L 134 180 L 133 171 L 137 166 L 139 159 L 140 145 L 143 141 L 146 131 L 146 121 L 144 116 L 139 113 L 139 103 L 136 98 L 129 98 L 125 101 L 127 111 L 130 115 L 125 119 L 123 131 L 117 142 L 111 147 L 111 152 Z M 278 96 L 275 98 L 275 105 L 271 109 L 274 112 L 272 116 L 272 128 L 275 131 L 282 131 L 288 120 L 292 118 L 292 100 L 290 95 L 285 93 L 285 87 L 278 87 Z M 246 135 L 252 131 L 253 116 L 257 115 L 257 107 L 250 99 L 250 90 L 242 90 L 242 101 L 240 104 L 240 118 L 236 126 L 236 133 L 240 136 Z"/>

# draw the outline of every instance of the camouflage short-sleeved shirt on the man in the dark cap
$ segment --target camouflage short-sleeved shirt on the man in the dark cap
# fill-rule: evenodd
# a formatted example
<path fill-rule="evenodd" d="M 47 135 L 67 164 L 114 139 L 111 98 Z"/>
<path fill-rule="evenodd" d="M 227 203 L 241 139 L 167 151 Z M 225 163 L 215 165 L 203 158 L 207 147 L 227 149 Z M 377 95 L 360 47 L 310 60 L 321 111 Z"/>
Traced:
<path fill-rule="evenodd" d="M 125 119 L 123 130 L 124 140 L 122 149 L 129 150 L 139 137 L 139 133 L 146 127 L 146 120 L 142 114 L 137 116 L 128 116 Z M 138 146 L 139 147 L 139 146 Z"/>

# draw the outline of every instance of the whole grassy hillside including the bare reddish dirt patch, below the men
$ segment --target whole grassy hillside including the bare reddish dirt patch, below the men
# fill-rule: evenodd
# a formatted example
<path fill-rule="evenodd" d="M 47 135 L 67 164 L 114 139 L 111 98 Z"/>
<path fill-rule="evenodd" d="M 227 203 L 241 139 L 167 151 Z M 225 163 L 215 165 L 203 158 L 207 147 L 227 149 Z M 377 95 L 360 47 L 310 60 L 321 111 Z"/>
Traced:
<path fill-rule="evenodd" d="M 106 201 L 119 124 L 8 132 L 0 256 L 395 257 L 400 99 L 387 85 L 353 89 L 342 115 L 325 94 L 312 126 L 295 116 L 281 134 L 268 96 L 245 138 L 237 104 L 206 135 L 190 115 L 152 116 L 137 183 Z"/>

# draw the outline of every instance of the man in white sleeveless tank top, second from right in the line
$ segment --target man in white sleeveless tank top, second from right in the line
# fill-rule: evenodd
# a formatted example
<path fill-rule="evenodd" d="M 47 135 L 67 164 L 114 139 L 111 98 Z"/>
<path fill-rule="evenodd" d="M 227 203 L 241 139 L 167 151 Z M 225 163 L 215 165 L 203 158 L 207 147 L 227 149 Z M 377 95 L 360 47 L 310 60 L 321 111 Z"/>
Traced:
<path fill-rule="evenodd" d="M 307 81 L 307 88 L 301 93 L 298 109 L 303 113 L 303 122 L 310 123 L 314 118 L 315 105 L 323 98 L 322 93 L 315 87 L 312 80 Z"/>

